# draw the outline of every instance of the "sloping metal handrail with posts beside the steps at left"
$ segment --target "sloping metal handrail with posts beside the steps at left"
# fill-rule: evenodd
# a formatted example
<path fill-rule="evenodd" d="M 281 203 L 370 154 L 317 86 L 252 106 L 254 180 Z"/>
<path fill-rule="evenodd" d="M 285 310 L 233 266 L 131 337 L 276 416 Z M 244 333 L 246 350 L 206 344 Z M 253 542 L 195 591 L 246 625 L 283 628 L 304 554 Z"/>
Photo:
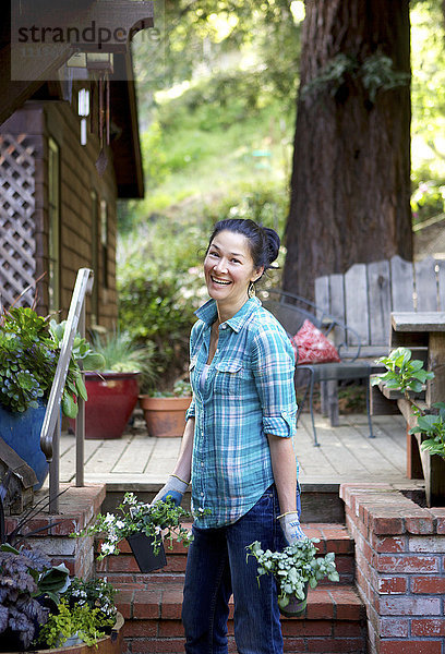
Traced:
<path fill-rule="evenodd" d="M 59 511 L 60 403 L 62 401 L 75 335 L 80 331 L 82 337 L 85 336 L 85 295 L 92 292 L 93 282 L 93 270 L 89 268 L 80 268 L 71 299 L 44 424 L 40 431 L 40 447 L 47 461 L 49 461 L 50 513 Z M 76 421 L 76 485 L 83 486 L 84 401 L 79 397 L 77 402 L 80 420 Z"/>

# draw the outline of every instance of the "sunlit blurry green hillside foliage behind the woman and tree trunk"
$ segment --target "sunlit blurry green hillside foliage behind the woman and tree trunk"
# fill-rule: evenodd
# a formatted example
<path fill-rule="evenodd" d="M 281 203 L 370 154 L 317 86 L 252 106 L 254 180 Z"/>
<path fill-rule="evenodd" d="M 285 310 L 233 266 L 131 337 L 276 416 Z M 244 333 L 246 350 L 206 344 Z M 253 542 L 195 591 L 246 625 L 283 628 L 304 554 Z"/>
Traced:
<path fill-rule="evenodd" d="M 249 216 L 282 235 L 289 204 L 303 3 L 269 1 L 268 13 L 253 2 L 231 3 L 232 13 L 191 4 L 194 11 L 166 2 L 170 28 L 161 31 L 160 55 L 135 46 L 146 197 L 119 214 L 121 328 L 156 343 L 158 387 L 185 374 L 193 311 L 206 296 L 201 263 L 212 225 Z M 440 3 L 417 2 L 411 24 L 420 221 L 443 213 L 445 190 Z"/>

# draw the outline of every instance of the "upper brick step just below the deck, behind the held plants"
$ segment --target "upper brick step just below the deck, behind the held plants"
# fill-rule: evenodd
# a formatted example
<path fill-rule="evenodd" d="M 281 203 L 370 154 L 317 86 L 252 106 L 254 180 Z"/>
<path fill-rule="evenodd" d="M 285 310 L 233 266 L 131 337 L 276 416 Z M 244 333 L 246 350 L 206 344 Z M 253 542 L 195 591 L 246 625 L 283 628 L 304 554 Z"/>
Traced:
<path fill-rule="evenodd" d="M 302 526 L 309 537 L 320 540 L 316 546 L 320 554 L 335 553 L 336 566 L 340 576 L 339 583 L 351 584 L 354 580 L 353 541 L 346 526 L 338 523 L 310 523 Z M 179 579 L 185 571 L 187 548 L 179 543 L 175 543 L 172 549 L 166 547 L 167 566 L 152 574 L 140 572 L 127 541 L 120 543 L 119 549 L 121 552 L 119 556 L 109 556 L 96 565 L 98 573 L 106 576 L 112 583 L 122 584 L 123 577 L 125 577 L 128 583 L 140 586 L 144 583 L 159 583 L 165 577 Z M 329 582 L 323 580 L 321 585 L 326 583 Z M 147 586 L 142 585 L 141 590 Z"/>

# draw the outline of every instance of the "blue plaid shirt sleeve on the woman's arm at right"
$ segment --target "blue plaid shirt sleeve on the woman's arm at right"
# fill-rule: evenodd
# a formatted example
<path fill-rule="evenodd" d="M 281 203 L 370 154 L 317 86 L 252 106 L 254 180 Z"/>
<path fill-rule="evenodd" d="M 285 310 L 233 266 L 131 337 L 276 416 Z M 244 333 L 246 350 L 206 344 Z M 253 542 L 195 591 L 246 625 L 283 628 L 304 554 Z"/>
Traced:
<path fill-rule="evenodd" d="M 269 325 L 254 339 L 252 370 L 265 434 L 290 438 L 296 431 L 294 354 L 286 334 Z"/>

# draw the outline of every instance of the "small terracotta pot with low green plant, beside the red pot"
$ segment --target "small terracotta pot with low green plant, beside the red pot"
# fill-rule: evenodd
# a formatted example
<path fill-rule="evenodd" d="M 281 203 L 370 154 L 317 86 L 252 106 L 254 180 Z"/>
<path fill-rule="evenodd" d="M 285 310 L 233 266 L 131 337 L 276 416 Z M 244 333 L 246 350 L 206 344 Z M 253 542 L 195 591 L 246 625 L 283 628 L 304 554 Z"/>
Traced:
<path fill-rule="evenodd" d="M 192 400 L 189 382 L 179 379 L 170 392 L 155 391 L 152 395 L 141 395 L 139 399 L 149 436 L 156 438 L 182 436 L 185 412 Z"/>

